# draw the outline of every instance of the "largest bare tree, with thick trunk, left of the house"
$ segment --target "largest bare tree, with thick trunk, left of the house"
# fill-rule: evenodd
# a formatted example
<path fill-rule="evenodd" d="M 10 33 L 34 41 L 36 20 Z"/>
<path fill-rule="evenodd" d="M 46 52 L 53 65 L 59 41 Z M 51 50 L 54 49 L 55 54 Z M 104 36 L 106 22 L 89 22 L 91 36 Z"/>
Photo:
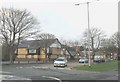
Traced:
<path fill-rule="evenodd" d="M 39 23 L 27 10 L 2 8 L 0 10 L 0 37 L 9 47 L 10 63 L 13 63 L 15 46 L 20 41 L 35 35 Z"/>

